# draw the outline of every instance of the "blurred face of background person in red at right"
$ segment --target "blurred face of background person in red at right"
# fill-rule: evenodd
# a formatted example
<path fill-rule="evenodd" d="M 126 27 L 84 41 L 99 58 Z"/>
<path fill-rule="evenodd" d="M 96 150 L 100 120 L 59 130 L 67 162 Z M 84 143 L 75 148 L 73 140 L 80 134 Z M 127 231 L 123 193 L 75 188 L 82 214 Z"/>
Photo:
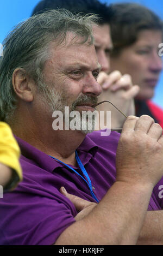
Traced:
<path fill-rule="evenodd" d="M 162 41 L 160 31 L 143 30 L 137 41 L 123 49 L 117 57 L 111 57 L 111 70 L 130 74 L 133 83 L 140 86 L 139 99 L 150 99 L 162 70 L 158 45 Z"/>

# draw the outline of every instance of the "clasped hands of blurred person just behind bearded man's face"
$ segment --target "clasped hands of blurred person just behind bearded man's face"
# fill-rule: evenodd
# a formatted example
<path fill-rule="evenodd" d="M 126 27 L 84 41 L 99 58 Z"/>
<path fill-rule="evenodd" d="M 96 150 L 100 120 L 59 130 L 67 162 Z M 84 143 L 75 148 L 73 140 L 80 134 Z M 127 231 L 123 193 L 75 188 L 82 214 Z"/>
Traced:
<path fill-rule="evenodd" d="M 126 116 L 135 115 L 134 97 L 139 93 L 140 87 L 132 84 L 130 75 L 126 74 L 122 76 L 119 71 L 114 71 L 110 75 L 101 72 L 97 81 L 103 88 L 103 92 L 99 96 L 99 102 L 110 100 Z M 111 128 L 121 128 L 123 126 L 125 117 L 111 104 L 104 103 L 99 105 L 97 110 L 111 111 Z"/>

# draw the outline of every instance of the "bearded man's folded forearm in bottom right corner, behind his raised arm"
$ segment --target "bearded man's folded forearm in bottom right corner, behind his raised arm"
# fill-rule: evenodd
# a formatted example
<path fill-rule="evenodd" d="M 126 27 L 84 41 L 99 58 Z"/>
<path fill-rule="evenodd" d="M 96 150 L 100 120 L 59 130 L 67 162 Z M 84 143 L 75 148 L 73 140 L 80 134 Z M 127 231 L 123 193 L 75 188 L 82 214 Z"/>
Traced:
<path fill-rule="evenodd" d="M 137 245 L 163 245 L 163 211 L 148 211 Z"/>

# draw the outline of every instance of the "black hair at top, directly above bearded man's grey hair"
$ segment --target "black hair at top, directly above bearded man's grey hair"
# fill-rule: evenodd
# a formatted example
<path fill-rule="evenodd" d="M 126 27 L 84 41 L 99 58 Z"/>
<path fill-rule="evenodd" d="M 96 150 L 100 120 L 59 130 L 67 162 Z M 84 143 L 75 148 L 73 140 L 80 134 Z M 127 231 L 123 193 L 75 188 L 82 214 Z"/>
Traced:
<path fill-rule="evenodd" d="M 34 8 L 32 16 L 37 13 L 43 13 L 48 9 L 57 8 L 67 9 L 73 14 L 97 14 L 99 25 L 110 23 L 113 15 L 111 5 L 108 7 L 105 3 L 101 3 L 97 0 L 42 0 Z"/>

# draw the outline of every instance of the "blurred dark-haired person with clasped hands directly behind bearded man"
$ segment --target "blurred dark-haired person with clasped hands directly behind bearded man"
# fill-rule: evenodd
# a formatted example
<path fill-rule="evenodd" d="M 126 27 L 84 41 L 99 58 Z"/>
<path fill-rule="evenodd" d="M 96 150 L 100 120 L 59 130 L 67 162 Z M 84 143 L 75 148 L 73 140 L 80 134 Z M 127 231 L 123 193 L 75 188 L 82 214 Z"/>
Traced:
<path fill-rule="evenodd" d="M 98 15 L 99 26 L 93 26 L 93 36 L 95 38 L 95 49 L 99 64 L 101 64 L 101 73 L 98 75 L 98 83 L 102 86 L 103 92 L 98 97 L 98 102 L 110 100 L 126 116 L 135 115 L 134 97 L 139 92 L 139 86 L 134 85 L 128 74 L 121 74 L 115 70 L 108 75 L 110 70 L 110 52 L 112 50 L 112 40 L 110 37 L 110 21 L 114 14 L 111 7 L 97 0 L 42 0 L 33 10 L 32 15 L 43 13 L 48 9 L 64 8 L 72 13 Z M 126 118 L 118 112 L 114 106 L 104 103 L 97 106 L 98 111 L 105 111 L 103 119 L 104 128 L 106 125 L 106 110 L 111 111 L 111 128 L 121 128 Z"/>

